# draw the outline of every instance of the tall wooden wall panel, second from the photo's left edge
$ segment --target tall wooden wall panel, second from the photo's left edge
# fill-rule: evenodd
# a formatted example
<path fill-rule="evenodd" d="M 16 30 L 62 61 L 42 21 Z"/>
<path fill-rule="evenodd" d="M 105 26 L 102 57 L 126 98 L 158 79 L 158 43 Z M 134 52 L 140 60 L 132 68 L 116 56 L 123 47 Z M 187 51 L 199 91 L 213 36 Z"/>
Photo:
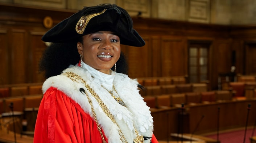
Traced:
<path fill-rule="evenodd" d="M 28 77 L 26 71 L 28 62 L 28 48 L 26 43 L 26 31 L 13 29 L 11 31 L 11 83 L 26 83 Z"/>

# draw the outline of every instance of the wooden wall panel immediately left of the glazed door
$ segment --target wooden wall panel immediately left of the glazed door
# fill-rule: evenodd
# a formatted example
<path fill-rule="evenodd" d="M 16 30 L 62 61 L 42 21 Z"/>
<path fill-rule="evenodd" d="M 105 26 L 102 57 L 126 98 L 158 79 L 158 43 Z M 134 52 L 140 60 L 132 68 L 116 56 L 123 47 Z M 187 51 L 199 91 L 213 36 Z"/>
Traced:
<path fill-rule="evenodd" d="M 162 76 L 187 75 L 187 48 L 183 37 L 162 37 Z"/>

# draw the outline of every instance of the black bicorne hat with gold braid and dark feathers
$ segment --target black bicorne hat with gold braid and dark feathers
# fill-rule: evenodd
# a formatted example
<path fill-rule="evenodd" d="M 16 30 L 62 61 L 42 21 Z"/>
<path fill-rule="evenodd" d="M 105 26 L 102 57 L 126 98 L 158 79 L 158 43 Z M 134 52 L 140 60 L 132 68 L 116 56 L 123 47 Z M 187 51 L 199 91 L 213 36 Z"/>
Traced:
<path fill-rule="evenodd" d="M 145 41 L 133 29 L 132 18 L 115 4 L 84 7 L 58 23 L 42 37 L 45 42 L 63 43 L 98 31 L 111 31 L 120 38 L 120 44 L 144 46 Z"/>

